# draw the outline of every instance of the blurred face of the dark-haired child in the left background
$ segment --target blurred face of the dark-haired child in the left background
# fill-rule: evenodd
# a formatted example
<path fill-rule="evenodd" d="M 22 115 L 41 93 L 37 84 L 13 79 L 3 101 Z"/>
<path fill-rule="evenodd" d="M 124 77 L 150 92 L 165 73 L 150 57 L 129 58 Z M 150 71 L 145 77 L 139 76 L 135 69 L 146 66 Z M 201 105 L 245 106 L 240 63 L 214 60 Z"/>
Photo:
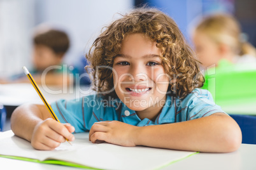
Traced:
<path fill-rule="evenodd" d="M 62 58 L 44 45 L 34 45 L 32 62 L 34 68 L 39 71 L 45 70 L 52 65 L 60 65 Z"/>

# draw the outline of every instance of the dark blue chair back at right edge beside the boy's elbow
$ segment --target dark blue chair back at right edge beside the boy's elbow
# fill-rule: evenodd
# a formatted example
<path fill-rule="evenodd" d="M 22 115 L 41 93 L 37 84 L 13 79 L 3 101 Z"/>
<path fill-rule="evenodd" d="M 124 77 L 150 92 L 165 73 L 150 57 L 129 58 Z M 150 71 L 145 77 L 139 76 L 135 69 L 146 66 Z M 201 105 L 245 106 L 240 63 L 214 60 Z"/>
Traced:
<path fill-rule="evenodd" d="M 242 143 L 256 144 L 256 116 L 230 115 L 240 126 L 242 131 Z"/>

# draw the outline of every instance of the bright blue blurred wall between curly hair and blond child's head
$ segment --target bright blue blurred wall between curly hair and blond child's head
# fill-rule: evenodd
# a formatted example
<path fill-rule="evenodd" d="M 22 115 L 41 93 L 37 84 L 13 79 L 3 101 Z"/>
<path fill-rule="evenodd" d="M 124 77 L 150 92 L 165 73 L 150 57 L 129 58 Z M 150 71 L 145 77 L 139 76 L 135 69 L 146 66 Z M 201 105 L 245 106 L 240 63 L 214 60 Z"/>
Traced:
<path fill-rule="evenodd" d="M 135 0 L 136 6 L 143 4 L 158 8 L 171 16 L 190 44 L 190 31 L 203 15 L 234 13 L 232 0 Z"/>

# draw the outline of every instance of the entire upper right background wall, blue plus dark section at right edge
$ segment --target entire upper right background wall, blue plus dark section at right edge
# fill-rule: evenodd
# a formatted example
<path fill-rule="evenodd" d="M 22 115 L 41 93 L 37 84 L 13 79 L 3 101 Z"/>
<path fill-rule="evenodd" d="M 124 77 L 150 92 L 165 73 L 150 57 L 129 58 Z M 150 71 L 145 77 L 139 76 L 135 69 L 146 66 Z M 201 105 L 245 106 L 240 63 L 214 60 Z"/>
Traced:
<path fill-rule="evenodd" d="M 134 4 L 147 4 L 167 13 L 178 24 L 188 42 L 190 29 L 201 16 L 210 13 L 229 13 L 238 19 L 241 29 L 248 36 L 247 41 L 256 47 L 255 0 L 134 0 Z"/>

